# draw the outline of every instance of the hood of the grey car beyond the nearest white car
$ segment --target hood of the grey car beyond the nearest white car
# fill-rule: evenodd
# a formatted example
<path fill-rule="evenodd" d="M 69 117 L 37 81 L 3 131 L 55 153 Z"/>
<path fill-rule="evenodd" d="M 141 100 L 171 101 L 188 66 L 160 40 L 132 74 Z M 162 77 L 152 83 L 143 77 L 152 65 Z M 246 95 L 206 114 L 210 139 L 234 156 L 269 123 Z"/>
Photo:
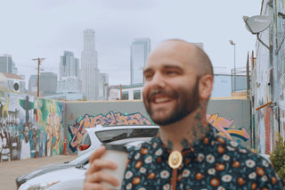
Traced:
<path fill-rule="evenodd" d="M 16 184 L 17 186 L 22 185 L 25 183 L 28 179 L 35 178 L 38 176 L 41 176 L 45 173 L 59 170 L 59 169 L 68 169 L 70 167 L 77 166 L 75 164 L 69 164 L 69 163 L 53 163 L 53 164 L 48 164 L 43 167 L 37 168 L 36 170 L 33 170 L 31 172 L 28 172 L 26 174 L 21 175 L 20 177 L 16 178 Z"/>

